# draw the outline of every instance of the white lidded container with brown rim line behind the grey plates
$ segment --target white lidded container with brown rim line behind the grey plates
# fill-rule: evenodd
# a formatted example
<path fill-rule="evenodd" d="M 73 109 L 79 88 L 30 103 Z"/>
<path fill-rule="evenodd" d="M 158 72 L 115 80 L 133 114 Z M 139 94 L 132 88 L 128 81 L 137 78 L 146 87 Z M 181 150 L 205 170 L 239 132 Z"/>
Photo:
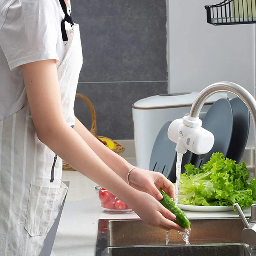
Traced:
<path fill-rule="evenodd" d="M 138 100 L 132 105 L 137 166 L 149 169 L 151 152 L 159 131 L 166 122 L 188 114 L 197 95 L 198 92 L 161 94 Z M 227 99 L 227 93 L 216 93 L 209 97 L 199 115 L 200 119 L 221 98 Z"/>

